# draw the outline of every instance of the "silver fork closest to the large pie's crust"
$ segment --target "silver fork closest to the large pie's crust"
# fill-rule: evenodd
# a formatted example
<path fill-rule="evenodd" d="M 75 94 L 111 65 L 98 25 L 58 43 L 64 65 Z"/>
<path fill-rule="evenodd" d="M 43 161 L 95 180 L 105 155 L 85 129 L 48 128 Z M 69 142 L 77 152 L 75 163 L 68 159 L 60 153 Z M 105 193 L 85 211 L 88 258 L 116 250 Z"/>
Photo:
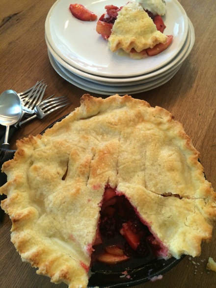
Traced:
<path fill-rule="evenodd" d="M 27 123 L 28 121 L 30 121 L 36 117 L 39 119 L 42 119 L 46 115 L 48 115 L 49 113 L 70 104 L 70 101 L 66 96 L 51 98 L 53 96 L 54 95 L 45 99 L 41 103 L 35 105 L 35 108 L 34 108 L 35 114 L 33 116 L 27 118 L 26 120 L 19 122 L 19 126 L 22 126 L 23 124 Z"/>

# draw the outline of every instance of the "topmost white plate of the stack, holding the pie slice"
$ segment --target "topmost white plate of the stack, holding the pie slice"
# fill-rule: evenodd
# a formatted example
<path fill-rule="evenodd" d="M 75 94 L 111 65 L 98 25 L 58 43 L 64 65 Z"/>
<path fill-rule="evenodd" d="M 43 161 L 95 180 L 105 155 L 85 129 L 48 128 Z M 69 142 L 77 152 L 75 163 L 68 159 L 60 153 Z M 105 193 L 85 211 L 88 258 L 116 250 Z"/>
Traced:
<path fill-rule="evenodd" d="M 134 1 L 134 0 L 132 0 Z M 166 0 L 163 17 L 166 35 L 173 35 L 172 44 L 164 52 L 140 60 L 120 56 L 108 48 L 108 43 L 96 32 L 97 21 L 84 22 L 73 17 L 69 10 L 71 0 L 57 0 L 50 9 L 46 23 L 46 37 L 54 51 L 68 64 L 81 71 L 106 77 L 132 77 L 146 74 L 171 61 L 181 50 L 188 33 L 188 17 L 177 0 Z M 117 0 L 123 6 L 127 0 Z M 105 13 L 105 6 L 113 0 L 79 0 L 98 18 Z"/>

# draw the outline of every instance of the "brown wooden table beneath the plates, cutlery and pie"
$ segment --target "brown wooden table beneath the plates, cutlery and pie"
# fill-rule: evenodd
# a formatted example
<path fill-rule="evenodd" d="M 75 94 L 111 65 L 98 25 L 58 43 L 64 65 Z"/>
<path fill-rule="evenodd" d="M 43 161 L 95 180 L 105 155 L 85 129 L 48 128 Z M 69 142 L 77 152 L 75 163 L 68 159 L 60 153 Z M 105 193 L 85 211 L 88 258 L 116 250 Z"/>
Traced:
<path fill-rule="evenodd" d="M 72 1 L 73 2 L 73 1 Z M 180 0 L 195 29 L 195 45 L 177 74 L 161 87 L 133 95 L 150 105 L 169 110 L 183 123 L 205 174 L 216 188 L 216 1 Z M 80 105 L 80 88 L 62 79 L 50 64 L 44 39 L 44 23 L 54 0 L 0 1 L 0 90 L 17 92 L 31 87 L 37 80 L 48 83 L 46 96 L 66 95 L 71 105 L 43 120 L 34 120 L 19 130 L 11 140 L 36 135 L 59 117 Z M 100 96 L 91 93 L 93 96 Z M 106 97 L 106 96 L 102 96 Z M 23 263 L 10 242 L 11 222 L 7 215 L 0 224 L 0 288 L 52 288 L 54 284 L 38 276 L 34 268 Z M 202 245 L 200 257 L 185 257 L 163 275 L 162 280 L 148 282 L 143 288 L 213 288 L 216 272 L 206 270 L 209 257 L 216 260 L 216 233 L 211 243 Z M 67 286 L 61 284 L 59 288 Z"/>

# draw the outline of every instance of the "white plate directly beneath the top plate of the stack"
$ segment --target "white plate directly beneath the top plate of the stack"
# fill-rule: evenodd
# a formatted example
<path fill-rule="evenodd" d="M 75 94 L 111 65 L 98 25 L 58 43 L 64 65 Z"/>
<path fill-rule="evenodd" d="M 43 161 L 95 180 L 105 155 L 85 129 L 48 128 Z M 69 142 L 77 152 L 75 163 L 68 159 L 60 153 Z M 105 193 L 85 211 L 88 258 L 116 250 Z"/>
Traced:
<path fill-rule="evenodd" d="M 178 67 L 187 58 L 187 56 L 189 55 L 189 52 L 191 51 L 194 45 L 194 40 L 195 40 L 193 26 L 190 20 L 188 21 L 189 21 L 189 31 L 188 31 L 188 36 L 185 41 L 185 44 L 182 47 L 182 50 L 178 53 L 178 55 L 176 55 L 176 57 L 171 62 L 163 66 L 161 69 L 154 71 L 152 73 L 144 74 L 144 75 L 136 76 L 136 77 L 128 77 L 128 78 L 106 78 L 106 77 L 88 74 L 79 69 L 76 69 L 73 66 L 69 65 L 68 63 L 66 63 L 65 61 L 63 61 L 63 59 L 61 59 L 54 52 L 47 38 L 46 37 L 45 38 L 46 38 L 48 50 L 53 55 L 56 63 L 60 65 L 60 69 L 63 72 L 67 71 L 67 73 L 70 75 L 77 75 L 83 79 L 88 79 L 89 81 L 92 81 L 94 83 L 112 85 L 112 86 L 128 86 L 128 85 L 135 85 L 135 84 L 149 82 L 149 81 L 152 81 L 161 77 L 162 75 L 165 76 L 166 74 L 174 70 L 176 67 Z"/>

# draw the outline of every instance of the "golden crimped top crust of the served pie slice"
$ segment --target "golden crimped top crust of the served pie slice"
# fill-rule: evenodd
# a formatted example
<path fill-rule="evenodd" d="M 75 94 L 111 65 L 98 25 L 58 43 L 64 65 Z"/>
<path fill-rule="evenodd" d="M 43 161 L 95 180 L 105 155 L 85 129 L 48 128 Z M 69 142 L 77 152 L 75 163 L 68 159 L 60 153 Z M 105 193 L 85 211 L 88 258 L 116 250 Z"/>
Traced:
<path fill-rule="evenodd" d="M 157 30 L 153 20 L 141 5 L 129 2 L 118 12 L 108 38 L 108 45 L 112 52 L 119 49 L 130 52 L 133 48 L 136 52 L 141 52 L 153 48 L 156 44 L 165 44 L 166 40 L 167 36 Z"/>

